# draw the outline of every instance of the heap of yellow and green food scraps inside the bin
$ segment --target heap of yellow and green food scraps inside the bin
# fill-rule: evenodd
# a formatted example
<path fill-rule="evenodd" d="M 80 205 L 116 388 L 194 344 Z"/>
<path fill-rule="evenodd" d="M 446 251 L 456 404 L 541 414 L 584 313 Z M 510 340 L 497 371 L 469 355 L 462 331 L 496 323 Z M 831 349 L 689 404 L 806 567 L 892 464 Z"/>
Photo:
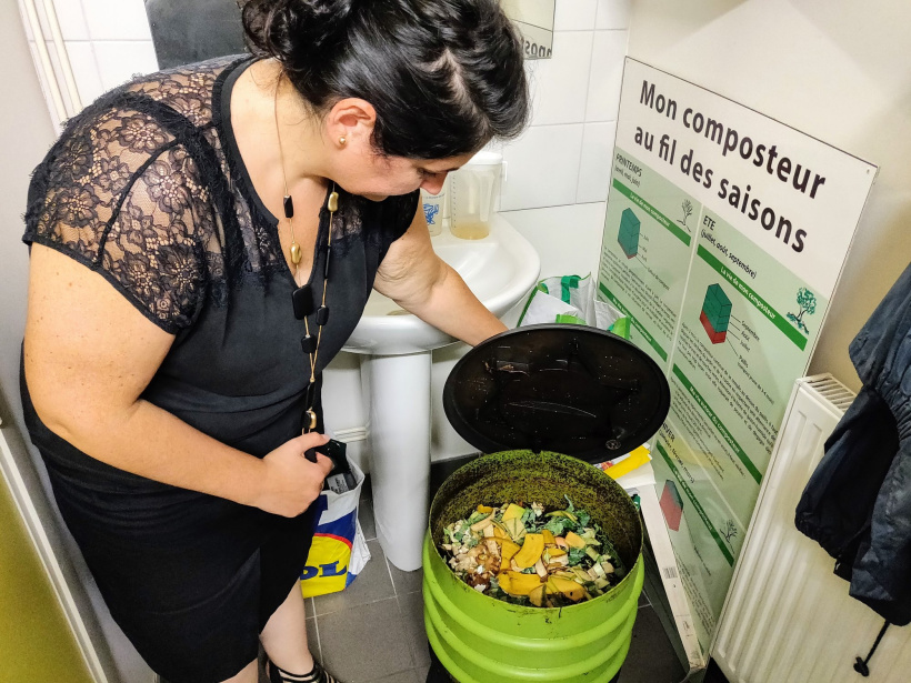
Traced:
<path fill-rule="evenodd" d="M 443 558 L 474 590 L 504 602 L 559 607 L 598 597 L 627 571 L 589 513 L 567 503 L 478 505 L 443 530 Z"/>

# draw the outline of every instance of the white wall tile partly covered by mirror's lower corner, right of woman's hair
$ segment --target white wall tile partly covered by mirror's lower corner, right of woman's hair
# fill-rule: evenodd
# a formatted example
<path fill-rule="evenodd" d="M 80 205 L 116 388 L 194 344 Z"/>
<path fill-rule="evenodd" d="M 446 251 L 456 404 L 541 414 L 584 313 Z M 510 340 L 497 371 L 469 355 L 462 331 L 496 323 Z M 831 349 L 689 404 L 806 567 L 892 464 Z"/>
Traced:
<path fill-rule="evenodd" d="M 553 57 L 525 62 L 531 81 L 532 125 L 581 123 L 591 64 L 592 31 L 553 34 Z"/>

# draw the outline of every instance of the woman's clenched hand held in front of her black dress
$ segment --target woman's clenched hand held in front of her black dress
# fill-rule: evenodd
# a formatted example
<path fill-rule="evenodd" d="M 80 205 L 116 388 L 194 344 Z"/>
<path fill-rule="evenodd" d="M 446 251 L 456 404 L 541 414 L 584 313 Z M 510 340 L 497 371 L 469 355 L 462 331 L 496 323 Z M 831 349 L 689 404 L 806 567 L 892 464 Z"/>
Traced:
<path fill-rule="evenodd" d="M 283 443 L 262 459 L 266 479 L 257 508 L 293 518 L 307 510 L 317 500 L 322 483 L 332 471 L 332 461 L 317 453 L 317 462 L 310 462 L 306 451 L 324 445 L 326 434 L 311 432 Z"/>

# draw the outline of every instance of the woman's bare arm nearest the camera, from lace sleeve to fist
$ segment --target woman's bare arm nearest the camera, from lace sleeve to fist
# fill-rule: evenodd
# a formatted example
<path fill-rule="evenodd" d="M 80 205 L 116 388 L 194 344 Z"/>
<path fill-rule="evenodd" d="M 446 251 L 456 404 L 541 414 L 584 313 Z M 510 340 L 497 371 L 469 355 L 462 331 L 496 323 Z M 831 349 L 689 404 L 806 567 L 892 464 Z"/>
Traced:
<path fill-rule="evenodd" d="M 287 516 L 306 510 L 331 462 L 301 455 L 323 436 L 300 436 L 260 460 L 139 398 L 172 342 L 101 275 L 32 247 L 26 380 L 48 429 L 148 479 Z"/>

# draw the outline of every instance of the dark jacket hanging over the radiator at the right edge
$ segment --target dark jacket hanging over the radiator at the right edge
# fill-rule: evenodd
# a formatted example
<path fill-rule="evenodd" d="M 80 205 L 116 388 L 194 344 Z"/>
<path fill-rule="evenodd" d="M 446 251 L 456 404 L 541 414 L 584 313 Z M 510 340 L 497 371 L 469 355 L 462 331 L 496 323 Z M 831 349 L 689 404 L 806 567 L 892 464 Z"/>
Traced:
<path fill-rule="evenodd" d="M 850 594 L 911 622 L 911 265 L 850 345 L 863 389 L 825 442 L 797 528 L 835 558 Z"/>

